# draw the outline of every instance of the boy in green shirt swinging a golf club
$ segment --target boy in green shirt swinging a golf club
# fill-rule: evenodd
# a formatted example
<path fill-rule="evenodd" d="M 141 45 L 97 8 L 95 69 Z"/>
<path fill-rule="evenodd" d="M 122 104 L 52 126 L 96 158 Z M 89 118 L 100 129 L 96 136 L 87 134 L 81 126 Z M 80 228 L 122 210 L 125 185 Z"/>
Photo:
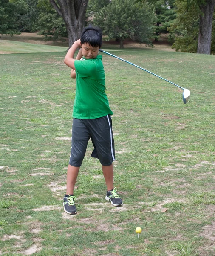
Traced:
<path fill-rule="evenodd" d="M 102 31 L 88 26 L 81 38 L 68 50 L 64 63 L 71 67 L 71 77 L 76 78 L 76 96 L 73 107 L 72 147 L 67 170 L 67 191 L 63 198 L 64 211 L 76 214 L 74 186 L 79 168 L 91 138 L 92 157 L 99 159 L 107 185 L 105 199 L 113 206 L 121 206 L 122 199 L 113 189 L 113 161 L 115 160 L 111 111 L 105 93 L 105 72 L 102 55 Z M 74 59 L 77 48 L 81 48 Z"/>

